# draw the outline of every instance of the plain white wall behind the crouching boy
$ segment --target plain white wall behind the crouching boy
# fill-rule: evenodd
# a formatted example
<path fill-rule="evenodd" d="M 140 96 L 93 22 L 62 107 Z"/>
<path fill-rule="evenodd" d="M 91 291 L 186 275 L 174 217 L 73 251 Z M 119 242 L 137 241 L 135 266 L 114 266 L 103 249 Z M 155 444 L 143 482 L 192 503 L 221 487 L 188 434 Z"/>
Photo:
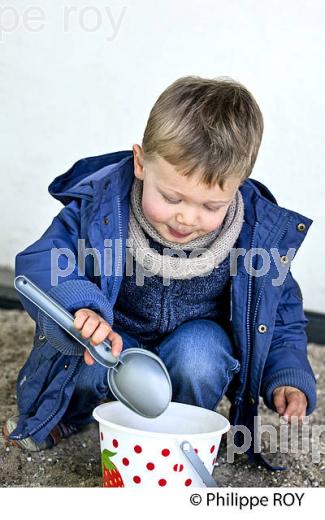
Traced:
<path fill-rule="evenodd" d="M 252 177 L 314 220 L 294 260 L 325 312 L 325 2 L 15 0 L 0 6 L 0 266 L 61 209 L 47 187 L 81 157 L 141 143 L 176 78 L 230 76 L 265 133 Z"/>

